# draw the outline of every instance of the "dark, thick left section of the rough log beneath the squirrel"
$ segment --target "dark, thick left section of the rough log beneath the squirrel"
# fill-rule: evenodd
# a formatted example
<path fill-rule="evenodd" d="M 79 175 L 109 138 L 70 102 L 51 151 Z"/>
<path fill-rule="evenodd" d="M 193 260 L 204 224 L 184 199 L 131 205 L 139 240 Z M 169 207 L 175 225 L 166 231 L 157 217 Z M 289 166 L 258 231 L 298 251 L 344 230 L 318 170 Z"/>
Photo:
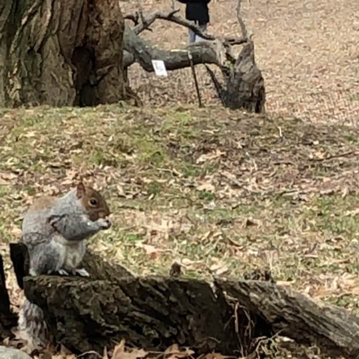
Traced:
<path fill-rule="evenodd" d="M 102 352 L 121 339 L 152 351 L 164 351 L 173 343 L 203 354 L 233 354 L 238 349 L 233 309 L 204 281 L 41 276 L 26 277 L 24 284 L 26 297 L 43 309 L 50 334 L 75 353 Z M 261 335 L 269 334 L 268 327 L 258 327 L 251 333 L 254 337 L 258 329 Z"/>

